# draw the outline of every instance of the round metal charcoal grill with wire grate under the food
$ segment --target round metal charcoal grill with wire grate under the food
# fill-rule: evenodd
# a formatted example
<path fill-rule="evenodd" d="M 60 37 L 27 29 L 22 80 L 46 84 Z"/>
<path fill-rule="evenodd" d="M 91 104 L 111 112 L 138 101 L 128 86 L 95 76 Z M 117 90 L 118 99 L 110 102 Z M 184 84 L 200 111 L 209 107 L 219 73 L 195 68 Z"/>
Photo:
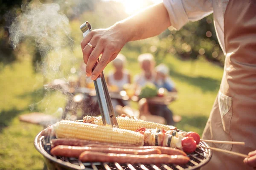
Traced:
<path fill-rule="evenodd" d="M 35 137 L 35 148 L 44 156 L 48 170 L 196 170 L 211 159 L 212 152 L 205 142 L 200 142 L 195 152 L 187 155 L 190 161 L 184 165 L 176 164 L 119 164 L 108 162 L 81 162 L 76 158 L 56 157 L 50 153 L 50 140 L 55 136 L 43 136 L 42 132 Z M 202 146 L 202 147 L 200 147 Z"/>

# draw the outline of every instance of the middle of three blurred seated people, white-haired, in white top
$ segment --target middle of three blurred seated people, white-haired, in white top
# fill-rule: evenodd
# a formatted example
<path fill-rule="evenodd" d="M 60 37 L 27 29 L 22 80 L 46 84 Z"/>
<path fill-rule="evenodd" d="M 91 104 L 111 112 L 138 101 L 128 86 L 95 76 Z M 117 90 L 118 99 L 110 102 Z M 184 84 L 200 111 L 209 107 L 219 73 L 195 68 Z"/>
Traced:
<path fill-rule="evenodd" d="M 138 62 L 142 72 L 134 77 L 137 87 L 142 87 L 147 82 L 154 83 L 156 73 L 154 71 L 155 61 L 153 55 L 150 53 L 141 54 L 138 57 Z"/>

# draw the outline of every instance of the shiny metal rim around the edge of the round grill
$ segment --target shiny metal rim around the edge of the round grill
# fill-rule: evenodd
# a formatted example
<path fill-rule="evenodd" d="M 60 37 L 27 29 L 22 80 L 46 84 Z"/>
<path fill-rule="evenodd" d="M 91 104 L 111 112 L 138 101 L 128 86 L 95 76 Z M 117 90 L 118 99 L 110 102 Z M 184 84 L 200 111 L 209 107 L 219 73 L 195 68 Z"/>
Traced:
<path fill-rule="evenodd" d="M 177 131 L 180 131 L 180 130 L 177 130 Z M 61 165 L 62 167 L 66 167 L 66 168 L 72 168 L 74 170 L 92 170 L 91 168 L 87 168 L 87 167 L 84 167 L 84 168 L 81 168 L 79 165 L 76 165 L 76 164 L 72 164 L 70 162 L 67 162 L 67 161 L 62 161 L 60 159 L 57 159 L 56 157 L 50 155 L 49 153 L 47 153 L 47 151 L 44 149 L 43 147 L 43 139 L 45 138 L 45 136 L 41 135 L 41 133 L 43 132 L 43 130 L 41 132 L 39 132 L 37 134 L 37 136 L 35 136 L 35 139 L 34 139 L 34 146 L 35 146 L 35 149 L 38 150 L 39 153 L 41 153 L 43 156 L 44 156 L 44 159 L 48 159 L 48 161 L 53 161 L 55 164 L 58 164 L 58 165 Z M 201 141 L 199 144 L 203 144 L 207 147 L 208 144 L 206 142 L 203 142 Z M 201 147 L 202 148 L 202 147 Z M 202 148 L 201 149 L 200 147 L 197 147 L 197 149 L 207 153 L 209 156 L 207 156 L 205 159 L 203 159 L 203 161 L 200 161 L 200 163 L 198 163 L 198 165 L 195 165 L 193 167 L 187 167 L 187 168 L 183 168 L 183 170 L 195 170 L 195 169 L 199 169 L 201 168 L 202 166 L 204 166 L 205 164 L 207 164 L 209 162 L 209 160 L 211 159 L 212 157 L 212 151 L 208 148 Z M 206 150 L 206 151 L 205 151 Z M 198 155 L 201 155 L 199 153 L 197 153 Z M 202 156 L 202 155 L 201 155 Z M 203 156 L 205 157 L 205 156 Z M 191 160 L 191 159 L 190 159 Z M 97 163 L 97 162 L 91 162 L 91 164 L 93 163 Z M 102 165 L 104 163 L 108 163 L 108 162 L 100 162 Z M 114 163 L 113 163 L 114 164 Z M 128 164 L 128 163 L 127 163 Z M 193 163 L 192 163 L 193 164 Z M 166 165 L 166 164 L 165 164 Z M 133 166 L 133 165 L 132 165 Z M 167 165 L 168 166 L 168 165 Z M 133 166 L 134 167 L 134 166 Z M 168 166 L 169 167 L 169 166 Z M 136 168 L 135 168 L 136 169 Z M 165 168 L 166 169 L 166 168 Z"/>

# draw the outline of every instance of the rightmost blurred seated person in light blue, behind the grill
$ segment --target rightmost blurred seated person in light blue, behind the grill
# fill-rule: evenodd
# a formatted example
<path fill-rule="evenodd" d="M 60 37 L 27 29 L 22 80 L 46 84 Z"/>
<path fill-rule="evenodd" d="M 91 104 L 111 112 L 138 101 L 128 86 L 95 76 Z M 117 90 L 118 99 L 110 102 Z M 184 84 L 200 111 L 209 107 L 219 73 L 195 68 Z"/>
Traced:
<path fill-rule="evenodd" d="M 157 86 L 157 88 L 166 88 L 167 91 L 177 92 L 174 82 L 168 75 L 169 68 L 166 65 L 157 65 L 155 71 L 157 72 L 157 76 L 154 84 Z"/>

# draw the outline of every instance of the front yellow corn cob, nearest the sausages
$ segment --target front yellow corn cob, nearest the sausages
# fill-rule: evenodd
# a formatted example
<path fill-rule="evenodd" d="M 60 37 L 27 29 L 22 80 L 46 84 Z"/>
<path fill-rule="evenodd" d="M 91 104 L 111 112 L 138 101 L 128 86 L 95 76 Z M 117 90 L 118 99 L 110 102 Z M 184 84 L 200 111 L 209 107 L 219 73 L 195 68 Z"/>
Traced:
<path fill-rule="evenodd" d="M 143 135 L 116 127 L 62 120 L 53 125 L 57 138 L 84 139 L 108 143 L 143 146 Z"/>

